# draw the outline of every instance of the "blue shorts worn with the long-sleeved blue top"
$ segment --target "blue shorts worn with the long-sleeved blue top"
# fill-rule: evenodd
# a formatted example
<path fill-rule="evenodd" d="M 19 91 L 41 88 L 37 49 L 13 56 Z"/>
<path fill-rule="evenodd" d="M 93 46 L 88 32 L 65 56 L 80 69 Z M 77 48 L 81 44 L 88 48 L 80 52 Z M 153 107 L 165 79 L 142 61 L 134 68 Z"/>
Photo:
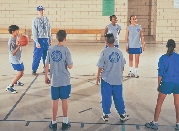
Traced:
<path fill-rule="evenodd" d="M 162 82 L 159 92 L 163 94 L 179 94 L 179 84 L 173 82 Z"/>

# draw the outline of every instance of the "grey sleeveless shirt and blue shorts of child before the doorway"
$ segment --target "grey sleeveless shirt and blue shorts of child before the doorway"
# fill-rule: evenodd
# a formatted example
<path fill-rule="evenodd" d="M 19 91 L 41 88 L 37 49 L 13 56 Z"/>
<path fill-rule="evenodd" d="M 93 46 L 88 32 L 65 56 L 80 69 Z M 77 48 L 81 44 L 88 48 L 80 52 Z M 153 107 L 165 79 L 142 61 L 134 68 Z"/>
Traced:
<path fill-rule="evenodd" d="M 140 38 L 140 31 L 142 27 L 138 24 L 135 26 L 129 25 L 128 26 L 128 53 L 129 54 L 141 54 L 141 38 Z"/>

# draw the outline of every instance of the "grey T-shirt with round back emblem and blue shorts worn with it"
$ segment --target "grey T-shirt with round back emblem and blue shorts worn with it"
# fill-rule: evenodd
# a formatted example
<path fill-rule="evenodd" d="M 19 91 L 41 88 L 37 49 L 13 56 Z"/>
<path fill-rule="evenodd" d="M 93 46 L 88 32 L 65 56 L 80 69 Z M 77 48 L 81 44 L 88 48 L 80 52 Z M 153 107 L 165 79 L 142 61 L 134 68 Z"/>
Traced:
<path fill-rule="evenodd" d="M 46 64 L 50 64 L 52 100 L 69 98 L 71 84 L 68 66 L 73 64 L 70 50 L 65 46 L 51 46 L 47 53 Z"/>

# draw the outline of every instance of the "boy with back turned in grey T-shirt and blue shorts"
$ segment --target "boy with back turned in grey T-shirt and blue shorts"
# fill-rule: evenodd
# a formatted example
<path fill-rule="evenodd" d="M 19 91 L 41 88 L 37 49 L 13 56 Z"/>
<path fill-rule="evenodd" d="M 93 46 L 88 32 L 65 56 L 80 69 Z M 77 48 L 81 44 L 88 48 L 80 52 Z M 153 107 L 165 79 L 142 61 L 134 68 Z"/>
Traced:
<path fill-rule="evenodd" d="M 67 99 L 70 97 L 71 84 L 70 84 L 70 73 L 68 69 L 73 66 L 71 53 L 69 48 L 64 46 L 66 41 L 66 31 L 59 30 L 56 34 L 58 44 L 51 46 L 47 52 L 47 60 L 45 65 L 45 83 L 51 84 L 51 97 L 52 97 L 52 121 L 49 127 L 53 130 L 57 130 L 57 111 L 58 101 L 62 101 L 63 110 L 63 122 L 62 130 L 67 130 L 71 127 L 68 121 L 68 102 Z M 50 65 L 50 80 L 48 78 L 48 69 Z"/>

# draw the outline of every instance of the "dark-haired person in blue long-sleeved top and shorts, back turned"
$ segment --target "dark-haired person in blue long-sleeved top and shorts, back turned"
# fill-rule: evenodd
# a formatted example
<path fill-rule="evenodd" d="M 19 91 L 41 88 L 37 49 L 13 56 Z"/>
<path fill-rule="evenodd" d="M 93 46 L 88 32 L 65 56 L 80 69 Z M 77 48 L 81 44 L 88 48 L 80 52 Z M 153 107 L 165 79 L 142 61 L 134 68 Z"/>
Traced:
<path fill-rule="evenodd" d="M 159 92 L 155 108 L 154 120 L 146 123 L 147 128 L 158 129 L 158 117 L 163 101 L 167 94 L 173 93 L 176 109 L 176 130 L 179 130 L 179 54 L 175 53 L 176 43 L 170 39 L 167 42 L 167 53 L 162 55 L 158 62 L 158 87 Z"/>

